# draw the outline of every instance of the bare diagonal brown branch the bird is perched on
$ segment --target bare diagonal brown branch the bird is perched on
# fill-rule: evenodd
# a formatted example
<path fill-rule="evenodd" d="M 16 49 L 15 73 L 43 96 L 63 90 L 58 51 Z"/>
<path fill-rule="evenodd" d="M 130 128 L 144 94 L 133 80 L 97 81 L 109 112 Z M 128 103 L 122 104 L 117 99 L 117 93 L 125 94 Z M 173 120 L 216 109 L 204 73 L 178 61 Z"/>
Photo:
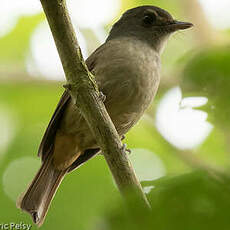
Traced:
<path fill-rule="evenodd" d="M 120 192 L 131 190 L 149 203 L 134 173 L 120 137 L 100 99 L 94 76 L 83 60 L 64 0 L 41 0 L 67 79 L 67 88 L 94 134 Z"/>

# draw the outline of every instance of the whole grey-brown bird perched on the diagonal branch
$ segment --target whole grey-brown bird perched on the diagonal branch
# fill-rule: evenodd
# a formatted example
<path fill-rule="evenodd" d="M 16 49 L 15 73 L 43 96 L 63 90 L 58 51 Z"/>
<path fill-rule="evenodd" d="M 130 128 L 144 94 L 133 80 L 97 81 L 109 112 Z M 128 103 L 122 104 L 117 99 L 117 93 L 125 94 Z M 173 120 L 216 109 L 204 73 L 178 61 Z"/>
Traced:
<path fill-rule="evenodd" d="M 121 137 L 137 123 L 157 92 L 160 55 L 169 36 L 191 26 L 155 6 L 133 8 L 86 60 Z M 99 151 L 88 124 L 65 91 L 40 144 L 42 166 L 17 206 L 42 225 L 63 177 Z"/>

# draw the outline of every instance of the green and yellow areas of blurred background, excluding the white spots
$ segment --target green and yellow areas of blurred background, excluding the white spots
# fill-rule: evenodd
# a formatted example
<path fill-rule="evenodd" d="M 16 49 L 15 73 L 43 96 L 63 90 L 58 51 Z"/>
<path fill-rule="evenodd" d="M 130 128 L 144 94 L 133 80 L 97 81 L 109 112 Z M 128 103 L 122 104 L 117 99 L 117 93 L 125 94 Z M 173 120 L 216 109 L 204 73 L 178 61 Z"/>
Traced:
<path fill-rule="evenodd" d="M 194 10 L 184 2 L 123 0 L 117 18 L 128 8 L 154 4 L 191 21 Z M 203 15 L 201 8 L 196 10 Z M 12 31 L 0 37 L 0 139 L 7 143 L 0 148 L 0 224 L 32 224 L 15 201 L 39 168 L 37 149 L 63 92 L 63 82 L 33 78 L 26 71 L 31 35 L 44 20 L 43 14 L 22 16 Z M 105 30 L 113 22 L 105 25 Z M 124 205 L 103 156 L 97 156 L 66 176 L 42 230 L 230 229 L 230 32 L 200 23 L 207 25 L 203 34 L 213 36 L 202 35 L 199 25 L 173 36 L 162 56 L 162 81 L 154 103 L 124 141 L 133 151 L 131 160 L 135 154 L 141 158 L 142 152 L 146 156 L 150 153 L 155 157 L 150 157 L 151 161 L 160 160 L 163 165 L 163 169 L 158 163 L 155 166 L 163 177 L 147 167 L 148 180 L 141 181 L 145 188 L 151 188 L 147 196 L 152 212 L 139 207 L 132 195 L 133 208 Z M 94 44 L 87 37 L 91 33 L 83 32 L 88 46 L 96 48 L 98 42 Z M 183 97 L 208 98 L 205 106 L 196 109 L 207 112 L 213 129 L 202 144 L 190 150 L 170 144 L 155 126 L 158 104 L 177 86 Z M 143 160 L 143 168 L 144 164 Z"/>

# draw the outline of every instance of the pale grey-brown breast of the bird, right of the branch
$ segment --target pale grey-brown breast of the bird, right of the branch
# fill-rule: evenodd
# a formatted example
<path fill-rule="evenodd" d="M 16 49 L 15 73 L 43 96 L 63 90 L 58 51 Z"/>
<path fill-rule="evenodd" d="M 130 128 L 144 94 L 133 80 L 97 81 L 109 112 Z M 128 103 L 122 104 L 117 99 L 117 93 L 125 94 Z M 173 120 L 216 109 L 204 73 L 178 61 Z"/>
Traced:
<path fill-rule="evenodd" d="M 158 53 L 139 40 L 107 42 L 94 70 L 105 106 L 119 134 L 127 132 L 151 103 L 160 80 Z"/>

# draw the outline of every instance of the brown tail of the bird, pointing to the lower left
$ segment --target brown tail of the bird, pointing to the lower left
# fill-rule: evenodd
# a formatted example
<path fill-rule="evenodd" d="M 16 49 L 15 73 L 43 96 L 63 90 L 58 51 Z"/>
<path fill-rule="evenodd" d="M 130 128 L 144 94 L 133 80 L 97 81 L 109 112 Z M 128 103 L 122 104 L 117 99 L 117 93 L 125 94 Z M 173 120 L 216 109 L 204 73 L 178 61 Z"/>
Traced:
<path fill-rule="evenodd" d="M 35 224 L 41 226 L 55 192 L 67 170 L 54 168 L 52 154 L 42 163 L 28 189 L 17 200 L 17 207 L 28 212 Z"/>

